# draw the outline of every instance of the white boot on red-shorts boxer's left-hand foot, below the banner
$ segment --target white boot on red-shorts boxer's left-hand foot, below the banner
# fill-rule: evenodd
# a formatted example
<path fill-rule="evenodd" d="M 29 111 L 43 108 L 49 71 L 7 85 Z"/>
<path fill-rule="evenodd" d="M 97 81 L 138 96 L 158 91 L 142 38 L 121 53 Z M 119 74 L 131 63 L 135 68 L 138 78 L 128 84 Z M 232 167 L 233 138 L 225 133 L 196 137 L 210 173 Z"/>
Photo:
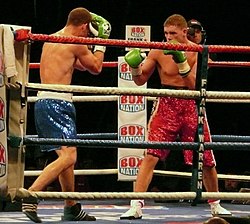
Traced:
<path fill-rule="evenodd" d="M 121 215 L 120 219 L 141 219 L 144 200 L 131 200 L 130 209 Z"/>

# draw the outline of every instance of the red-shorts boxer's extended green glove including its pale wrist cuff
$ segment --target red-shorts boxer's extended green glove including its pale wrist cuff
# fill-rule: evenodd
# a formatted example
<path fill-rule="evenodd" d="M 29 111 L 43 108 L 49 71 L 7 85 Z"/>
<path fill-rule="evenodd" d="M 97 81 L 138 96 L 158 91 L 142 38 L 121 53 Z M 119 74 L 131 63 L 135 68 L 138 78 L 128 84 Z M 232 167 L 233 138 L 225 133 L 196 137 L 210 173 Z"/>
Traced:
<path fill-rule="evenodd" d="M 139 48 L 135 48 L 130 50 L 124 57 L 125 61 L 131 67 L 131 74 L 133 76 L 141 75 L 142 71 L 140 68 L 140 64 L 146 58 L 146 54 L 142 53 Z"/>

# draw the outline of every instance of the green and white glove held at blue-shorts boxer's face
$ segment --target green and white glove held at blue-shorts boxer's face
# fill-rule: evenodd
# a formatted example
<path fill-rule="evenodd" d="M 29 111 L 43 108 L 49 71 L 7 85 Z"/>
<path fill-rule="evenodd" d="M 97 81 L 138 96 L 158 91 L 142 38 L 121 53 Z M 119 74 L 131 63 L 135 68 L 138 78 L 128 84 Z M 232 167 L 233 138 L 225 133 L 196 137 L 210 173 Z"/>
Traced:
<path fill-rule="evenodd" d="M 111 33 L 110 23 L 101 16 L 91 13 L 92 21 L 89 23 L 89 29 L 94 37 L 108 39 Z"/>

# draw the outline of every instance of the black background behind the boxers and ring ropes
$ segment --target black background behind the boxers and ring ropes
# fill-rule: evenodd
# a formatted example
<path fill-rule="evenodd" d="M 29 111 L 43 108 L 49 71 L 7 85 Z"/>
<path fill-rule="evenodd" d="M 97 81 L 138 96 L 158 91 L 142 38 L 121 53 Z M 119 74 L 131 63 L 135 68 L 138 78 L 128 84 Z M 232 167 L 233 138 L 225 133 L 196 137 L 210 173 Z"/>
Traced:
<path fill-rule="evenodd" d="M 151 40 L 162 41 L 163 22 L 173 14 L 182 14 L 187 20 L 199 20 L 207 31 L 207 44 L 249 45 L 249 7 L 245 1 L 218 0 L 21 0 L 3 1 L 0 8 L 0 23 L 32 27 L 32 33 L 50 34 L 65 25 L 67 15 L 74 7 L 85 7 L 97 13 L 112 25 L 110 38 L 124 39 L 125 25 L 150 25 Z M 39 62 L 42 43 L 31 47 L 31 62 Z M 109 47 L 105 61 L 117 61 L 125 54 L 123 48 Z M 218 53 L 217 61 L 249 61 L 249 54 Z M 117 86 L 117 69 L 104 68 L 100 76 L 87 72 L 75 72 L 72 84 L 90 86 Z M 39 82 L 38 70 L 30 71 L 30 82 Z M 249 91 L 249 68 L 210 68 L 208 90 Z M 158 88 L 157 73 L 148 82 L 149 88 Z M 76 103 L 79 133 L 117 132 L 117 104 L 115 102 Z M 249 104 L 207 103 L 207 116 L 212 135 L 250 135 Z M 149 113 L 151 103 L 149 103 Z M 27 134 L 35 134 L 33 105 L 28 107 Z M 38 149 L 27 150 L 27 169 L 41 168 L 47 155 Z M 180 170 L 182 156 L 173 152 L 165 164 L 173 170 Z M 248 151 L 215 151 L 219 173 L 243 174 L 249 171 Z M 41 159 L 42 158 L 42 159 Z M 177 162 L 178 158 L 178 162 Z M 40 161 L 41 159 L 41 161 Z M 79 149 L 77 168 L 116 168 L 116 149 Z M 40 162 L 38 162 L 40 161 Z M 181 162 L 180 162 L 181 161 Z M 185 169 L 184 169 L 185 170 Z M 106 179 L 105 179 L 106 178 Z M 116 177 L 88 177 L 84 189 L 124 190 L 126 183 L 115 183 Z M 105 179 L 106 181 L 103 181 Z M 110 181 L 108 181 L 110 180 Z M 82 180 L 83 182 L 83 180 Z M 104 184 L 106 183 L 106 184 Z M 129 185 L 130 186 L 130 185 Z M 89 190 L 87 189 L 87 190 Z"/>

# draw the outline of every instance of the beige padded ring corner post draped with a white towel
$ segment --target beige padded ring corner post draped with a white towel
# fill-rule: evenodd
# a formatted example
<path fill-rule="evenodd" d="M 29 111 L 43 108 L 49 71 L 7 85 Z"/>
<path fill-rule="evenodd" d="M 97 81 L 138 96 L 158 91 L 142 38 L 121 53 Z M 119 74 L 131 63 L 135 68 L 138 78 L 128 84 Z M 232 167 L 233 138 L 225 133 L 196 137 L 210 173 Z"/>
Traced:
<path fill-rule="evenodd" d="M 23 139 L 26 133 L 26 83 L 29 74 L 30 43 L 14 41 L 13 31 L 20 28 L 31 30 L 31 27 L 16 25 L 1 25 L 3 36 L 1 50 L 5 70 L 3 77 L 6 85 L 6 141 L 8 136 L 16 136 Z M 11 40 L 11 41 L 9 41 Z M 9 42 L 7 42 L 9 41 Z M 2 43 L 2 42 L 1 42 Z M 5 49 L 5 50 L 3 50 Z M 9 50 L 12 50 L 11 52 Z M 7 51 L 8 50 L 8 51 Z M 8 138 L 9 140 L 9 138 Z M 2 139 L 1 139 L 2 142 Z M 1 191 L 1 198 L 13 201 L 19 188 L 24 182 L 25 147 L 21 144 L 13 146 L 7 141 L 7 154 L 5 157 L 7 186 L 5 195 Z M 0 181 L 1 183 L 1 181 Z M 2 187 L 2 186 L 1 186 Z"/>

